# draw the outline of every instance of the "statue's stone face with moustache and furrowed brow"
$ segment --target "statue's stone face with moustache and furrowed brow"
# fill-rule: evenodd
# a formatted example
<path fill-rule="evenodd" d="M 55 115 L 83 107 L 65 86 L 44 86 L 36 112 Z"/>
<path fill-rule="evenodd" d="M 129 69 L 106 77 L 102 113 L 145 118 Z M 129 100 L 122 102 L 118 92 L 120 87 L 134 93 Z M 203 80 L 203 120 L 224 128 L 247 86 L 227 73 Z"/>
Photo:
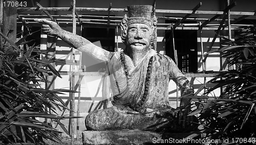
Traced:
<path fill-rule="evenodd" d="M 127 29 L 127 45 L 133 50 L 150 49 L 150 26 L 143 23 L 133 23 Z"/>

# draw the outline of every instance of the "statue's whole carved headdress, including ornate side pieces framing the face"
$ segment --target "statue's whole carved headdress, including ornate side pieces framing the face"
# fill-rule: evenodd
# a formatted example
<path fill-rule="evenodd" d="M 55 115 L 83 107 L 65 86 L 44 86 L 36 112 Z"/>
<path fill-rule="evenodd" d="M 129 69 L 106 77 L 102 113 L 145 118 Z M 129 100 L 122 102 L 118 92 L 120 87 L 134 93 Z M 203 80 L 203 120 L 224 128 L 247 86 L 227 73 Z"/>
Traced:
<path fill-rule="evenodd" d="M 127 28 L 132 23 L 143 23 L 151 27 L 151 42 L 157 39 L 157 18 L 156 16 L 151 16 L 153 6 L 151 5 L 132 5 L 127 6 L 128 16 L 126 14 L 123 16 L 121 22 L 121 38 L 122 42 L 126 43 Z"/>

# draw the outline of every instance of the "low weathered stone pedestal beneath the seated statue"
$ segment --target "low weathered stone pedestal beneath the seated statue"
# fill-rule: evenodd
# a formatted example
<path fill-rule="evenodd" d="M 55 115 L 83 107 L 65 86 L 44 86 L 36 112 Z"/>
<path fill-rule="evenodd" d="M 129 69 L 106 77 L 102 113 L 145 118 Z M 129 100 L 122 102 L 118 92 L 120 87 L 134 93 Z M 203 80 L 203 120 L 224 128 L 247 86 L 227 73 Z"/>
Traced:
<path fill-rule="evenodd" d="M 189 134 L 159 134 L 139 130 L 83 131 L 83 145 L 100 144 L 195 144 L 184 142 Z M 181 141 L 178 142 L 177 141 Z M 196 143 L 200 144 L 200 143 Z"/>

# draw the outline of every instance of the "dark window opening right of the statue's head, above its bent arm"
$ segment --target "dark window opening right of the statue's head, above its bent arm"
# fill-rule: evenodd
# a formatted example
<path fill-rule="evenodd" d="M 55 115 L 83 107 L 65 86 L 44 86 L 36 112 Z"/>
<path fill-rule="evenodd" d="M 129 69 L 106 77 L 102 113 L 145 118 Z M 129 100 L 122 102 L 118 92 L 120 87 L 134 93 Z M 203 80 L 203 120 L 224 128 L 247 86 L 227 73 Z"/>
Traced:
<path fill-rule="evenodd" d="M 165 23 L 176 23 L 173 20 L 165 20 Z M 183 23 L 197 23 L 196 21 L 184 21 Z M 165 31 L 165 54 L 175 61 L 175 50 L 178 57 L 178 68 L 181 72 L 197 72 L 197 31 L 195 30 L 169 30 Z"/>

